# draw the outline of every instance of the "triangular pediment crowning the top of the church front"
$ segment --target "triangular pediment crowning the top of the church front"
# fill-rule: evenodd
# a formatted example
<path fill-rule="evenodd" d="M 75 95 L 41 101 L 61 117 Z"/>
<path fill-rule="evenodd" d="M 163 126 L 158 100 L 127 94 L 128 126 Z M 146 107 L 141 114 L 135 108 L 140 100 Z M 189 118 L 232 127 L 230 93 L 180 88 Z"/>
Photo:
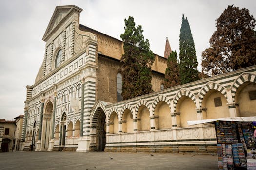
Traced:
<path fill-rule="evenodd" d="M 61 25 L 72 13 L 82 11 L 81 8 L 75 5 L 57 6 L 53 12 L 51 20 L 47 26 L 47 29 L 43 35 L 43 40 L 54 31 L 59 25 Z"/>

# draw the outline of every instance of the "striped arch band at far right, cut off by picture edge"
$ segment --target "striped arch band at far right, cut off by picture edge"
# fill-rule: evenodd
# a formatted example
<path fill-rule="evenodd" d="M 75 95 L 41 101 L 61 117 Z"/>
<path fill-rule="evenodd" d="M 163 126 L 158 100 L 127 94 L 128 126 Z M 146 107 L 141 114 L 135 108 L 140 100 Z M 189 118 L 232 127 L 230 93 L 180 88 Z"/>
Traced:
<path fill-rule="evenodd" d="M 245 82 L 256 83 L 256 75 L 252 73 L 244 72 L 234 81 L 234 83 L 230 87 L 233 102 L 235 102 L 236 90 Z"/>

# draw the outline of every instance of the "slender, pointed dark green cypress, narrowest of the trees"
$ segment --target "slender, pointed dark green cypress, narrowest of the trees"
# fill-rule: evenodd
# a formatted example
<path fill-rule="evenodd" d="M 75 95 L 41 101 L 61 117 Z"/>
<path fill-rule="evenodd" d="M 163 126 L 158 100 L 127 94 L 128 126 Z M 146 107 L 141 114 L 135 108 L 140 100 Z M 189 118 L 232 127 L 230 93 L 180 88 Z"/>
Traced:
<path fill-rule="evenodd" d="M 191 34 L 188 19 L 182 16 L 182 24 L 179 34 L 179 60 L 180 60 L 180 80 L 181 84 L 193 82 L 198 77 L 198 62 L 194 40 Z"/>

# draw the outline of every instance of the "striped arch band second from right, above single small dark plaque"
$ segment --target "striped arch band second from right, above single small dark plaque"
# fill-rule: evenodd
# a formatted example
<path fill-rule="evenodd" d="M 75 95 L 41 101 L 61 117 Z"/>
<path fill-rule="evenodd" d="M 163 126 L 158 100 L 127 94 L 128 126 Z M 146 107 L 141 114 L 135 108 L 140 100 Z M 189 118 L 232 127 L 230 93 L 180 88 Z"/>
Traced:
<path fill-rule="evenodd" d="M 208 82 L 206 85 L 204 85 L 204 86 L 202 87 L 202 89 L 200 90 L 200 92 L 199 92 L 199 95 L 198 95 L 198 96 L 199 96 L 199 105 L 200 105 L 200 107 L 202 107 L 202 101 L 203 101 L 204 95 L 205 95 L 208 91 L 210 91 L 210 90 L 212 90 L 212 89 L 219 91 L 219 92 L 222 93 L 222 94 L 225 96 L 225 98 L 227 99 L 227 90 L 226 90 L 226 88 L 223 87 L 222 85 L 218 84 L 218 83 L 215 83 L 215 82 L 210 81 L 210 82 Z M 228 100 L 228 99 L 227 99 L 227 100 Z"/>

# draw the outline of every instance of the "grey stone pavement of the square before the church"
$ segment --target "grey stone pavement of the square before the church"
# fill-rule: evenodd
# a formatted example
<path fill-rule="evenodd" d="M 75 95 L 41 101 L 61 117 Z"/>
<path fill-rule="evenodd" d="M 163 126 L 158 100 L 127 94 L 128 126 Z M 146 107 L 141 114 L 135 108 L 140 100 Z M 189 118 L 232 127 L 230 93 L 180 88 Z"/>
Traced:
<path fill-rule="evenodd" d="M 0 153 L 0 170 L 218 170 L 216 155 L 152 155 L 124 152 L 6 152 Z"/>

